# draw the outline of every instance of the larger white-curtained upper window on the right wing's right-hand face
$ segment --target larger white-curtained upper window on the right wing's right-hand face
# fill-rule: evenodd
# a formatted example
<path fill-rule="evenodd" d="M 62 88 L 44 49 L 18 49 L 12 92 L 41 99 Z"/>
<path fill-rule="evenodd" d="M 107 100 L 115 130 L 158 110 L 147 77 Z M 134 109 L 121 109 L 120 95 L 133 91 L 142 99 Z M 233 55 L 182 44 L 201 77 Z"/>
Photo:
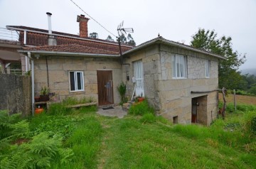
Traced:
<path fill-rule="evenodd" d="M 177 79 L 183 79 L 187 77 L 187 58 L 184 55 L 172 55 L 172 72 L 173 77 Z"/>

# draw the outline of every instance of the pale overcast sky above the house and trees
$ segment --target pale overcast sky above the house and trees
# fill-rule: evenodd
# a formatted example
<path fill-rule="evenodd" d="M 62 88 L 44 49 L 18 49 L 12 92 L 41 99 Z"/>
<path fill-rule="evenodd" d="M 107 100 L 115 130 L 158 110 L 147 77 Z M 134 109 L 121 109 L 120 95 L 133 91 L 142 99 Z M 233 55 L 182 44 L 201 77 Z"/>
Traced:
<path fill-rule="evenodd" d="M 133 28 L 137 45 L 156 38 L 190 45 L 198 28 L 215 30 L 218 36 L 230 36 L 233 49 L 246 53 L 240 70 L 256 68 L 256 0 L 73 0 L 108 31 L 117 35 L 117 26 Z M 76 18 L 83 13 L 70 0 L 0 0 L 0 28 L 28 26 L 48 29 L 46 12 L 52 13 L 53 31 L 78 34 Z M 88 32 L 106 39 L 109 32 L 95 21 Z M 114 36 L 112 36 L 114 38 Z M 115 38 L 114 38 L 115 39 Z"/>

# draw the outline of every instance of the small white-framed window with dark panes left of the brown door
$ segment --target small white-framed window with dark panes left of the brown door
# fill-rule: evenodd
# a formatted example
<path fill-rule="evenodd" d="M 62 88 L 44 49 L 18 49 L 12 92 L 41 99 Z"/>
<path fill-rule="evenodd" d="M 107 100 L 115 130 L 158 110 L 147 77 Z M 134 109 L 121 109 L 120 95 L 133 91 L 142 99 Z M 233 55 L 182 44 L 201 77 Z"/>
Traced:
<path fill-rule="evenodd" d="M 84 91 L 84 77 L 82 71 L 69 72 L 70 91 Z"/>

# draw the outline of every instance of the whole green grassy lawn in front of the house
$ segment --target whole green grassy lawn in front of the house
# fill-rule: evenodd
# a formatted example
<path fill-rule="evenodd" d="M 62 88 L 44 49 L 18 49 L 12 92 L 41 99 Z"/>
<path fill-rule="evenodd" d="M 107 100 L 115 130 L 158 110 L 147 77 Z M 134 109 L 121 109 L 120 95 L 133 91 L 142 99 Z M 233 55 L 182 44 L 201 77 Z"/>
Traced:
<path fill-rule="evenodd" d="M 61 141 L 50 165 L 34 168 L 256 168 L 255 134 L 248 126 L 256 111 L 227 114 L 225 121 L 206 127 L 172 125 L 152 114 L 117 119 L 95 114 L 95 107 L 53 108 L 28 119 L 28 141 L 22 144 L 32 144 L 33 136 L 44 131 Z M 20 151 L 13 151 L 14 143 L 0 146 L 0 168 Z"/>

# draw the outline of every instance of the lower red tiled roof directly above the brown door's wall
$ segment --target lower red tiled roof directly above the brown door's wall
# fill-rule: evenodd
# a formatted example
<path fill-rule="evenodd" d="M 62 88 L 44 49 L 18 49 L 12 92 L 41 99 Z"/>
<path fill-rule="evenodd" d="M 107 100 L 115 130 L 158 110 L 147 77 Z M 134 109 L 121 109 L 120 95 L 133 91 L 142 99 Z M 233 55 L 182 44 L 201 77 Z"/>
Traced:
<path fill-rule="evenodd" d="M 65 53 L 93 53 L 93 54 L 106 54 L 118 55 L 118 52 L 102 50 L 98 48 L 90 48 L 85 45 L 70 44 L 70 45 L 44 45 L 37 47 L 25 47 L 23 50 L 27 51 L 50 51 L 50 52 L 65 52 Z"/>

